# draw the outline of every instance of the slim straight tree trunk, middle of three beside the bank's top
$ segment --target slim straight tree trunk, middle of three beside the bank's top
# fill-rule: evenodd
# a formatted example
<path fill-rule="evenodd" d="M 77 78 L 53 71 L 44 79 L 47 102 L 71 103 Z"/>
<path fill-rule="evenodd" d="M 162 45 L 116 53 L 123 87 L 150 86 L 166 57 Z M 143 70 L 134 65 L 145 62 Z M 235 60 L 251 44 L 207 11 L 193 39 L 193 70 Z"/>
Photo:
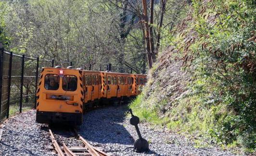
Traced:
<path fill-rule="evenodd" d="M 152 61 L 155 62 L 153 20 L 154 20 L 154 0 L 151 0 L 151 2 L 150 2 L 149 36 L 150 36 L 150 46 L 151 46 Z"/>

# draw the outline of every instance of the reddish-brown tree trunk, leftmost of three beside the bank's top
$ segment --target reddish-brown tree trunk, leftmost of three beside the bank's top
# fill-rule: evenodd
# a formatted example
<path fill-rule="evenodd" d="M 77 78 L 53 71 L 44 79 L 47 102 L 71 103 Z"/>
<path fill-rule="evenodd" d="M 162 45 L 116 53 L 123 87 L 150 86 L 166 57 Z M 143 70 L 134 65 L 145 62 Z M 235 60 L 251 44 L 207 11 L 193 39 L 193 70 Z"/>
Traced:
<path fill-rule="evenodd" d="M 149 36 L 149 26 L 148 26 L 148 14 L 147 14 L 147 2 L 146 0 L 142 0 L 143 5 L 143 20 L 145 25 L 145 40 L 146 40 L 146 47 L 147 47 L 147 57 L 148 57 L 148 64 L 149 68 L 152 68 L 152 55 L 151 55 L 151 47 L 150 47 L 150 36 Z"/>

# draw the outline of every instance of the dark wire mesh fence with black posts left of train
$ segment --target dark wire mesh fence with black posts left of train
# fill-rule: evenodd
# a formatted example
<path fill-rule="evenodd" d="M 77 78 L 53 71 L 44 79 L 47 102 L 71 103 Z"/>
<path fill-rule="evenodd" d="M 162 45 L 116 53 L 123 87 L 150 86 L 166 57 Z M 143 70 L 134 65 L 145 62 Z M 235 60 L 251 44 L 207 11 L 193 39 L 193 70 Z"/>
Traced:
<path fill-rule="evenodd" d="M 9 115 L 35 108 L 38 69 L 55 64 L 67 67 L 72 62 L 30 58 L 0 47 L 0 122 Z"/>

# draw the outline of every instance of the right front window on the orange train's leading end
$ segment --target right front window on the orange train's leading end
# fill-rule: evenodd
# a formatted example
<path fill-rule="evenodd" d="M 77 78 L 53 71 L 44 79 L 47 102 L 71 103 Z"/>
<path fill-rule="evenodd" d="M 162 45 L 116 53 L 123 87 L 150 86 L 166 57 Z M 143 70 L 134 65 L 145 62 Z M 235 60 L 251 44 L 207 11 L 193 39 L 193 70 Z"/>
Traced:
<path fill-rule="evenodd" d="M 77 76 L 65 75 L 62 81 L 62 89 L 64 91 L 75 91 L 77 90 Z"/>

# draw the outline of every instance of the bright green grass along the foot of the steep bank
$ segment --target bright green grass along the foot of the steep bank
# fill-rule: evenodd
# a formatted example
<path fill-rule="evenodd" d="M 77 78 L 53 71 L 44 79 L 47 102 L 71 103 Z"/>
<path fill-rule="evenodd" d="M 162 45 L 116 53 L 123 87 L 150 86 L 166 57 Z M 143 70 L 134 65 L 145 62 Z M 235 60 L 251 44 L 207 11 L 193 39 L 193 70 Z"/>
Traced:
<path fill-rule="evenodd" d="M 223 120 L 231 112 L 226 109 L 225 105 L 205 107 L 198 103 L 198 96 L 181 98 L 176 104 L 173 104 L 171 110 L 159 116 L 161 106 L 168 102 L 163 99 L 156 103 L 154 97 L 156 93 L 145 97 L 144 88 L 142 94 L 137 96 L 129 105 L 134 115 L 138 116 L 142 122 L 149 122 L 160 127 L 181 133 L 194 142 L 194 147 L 204 148 L 212 146 L 213 143 L 219 144 L 213 135 L 215 135 L 215 126 L 218 120 Z M 146 98 L 146 99 L 145 99 Z M 237 144 L 219 144 L 222 148 L 233 148 Z"/>

